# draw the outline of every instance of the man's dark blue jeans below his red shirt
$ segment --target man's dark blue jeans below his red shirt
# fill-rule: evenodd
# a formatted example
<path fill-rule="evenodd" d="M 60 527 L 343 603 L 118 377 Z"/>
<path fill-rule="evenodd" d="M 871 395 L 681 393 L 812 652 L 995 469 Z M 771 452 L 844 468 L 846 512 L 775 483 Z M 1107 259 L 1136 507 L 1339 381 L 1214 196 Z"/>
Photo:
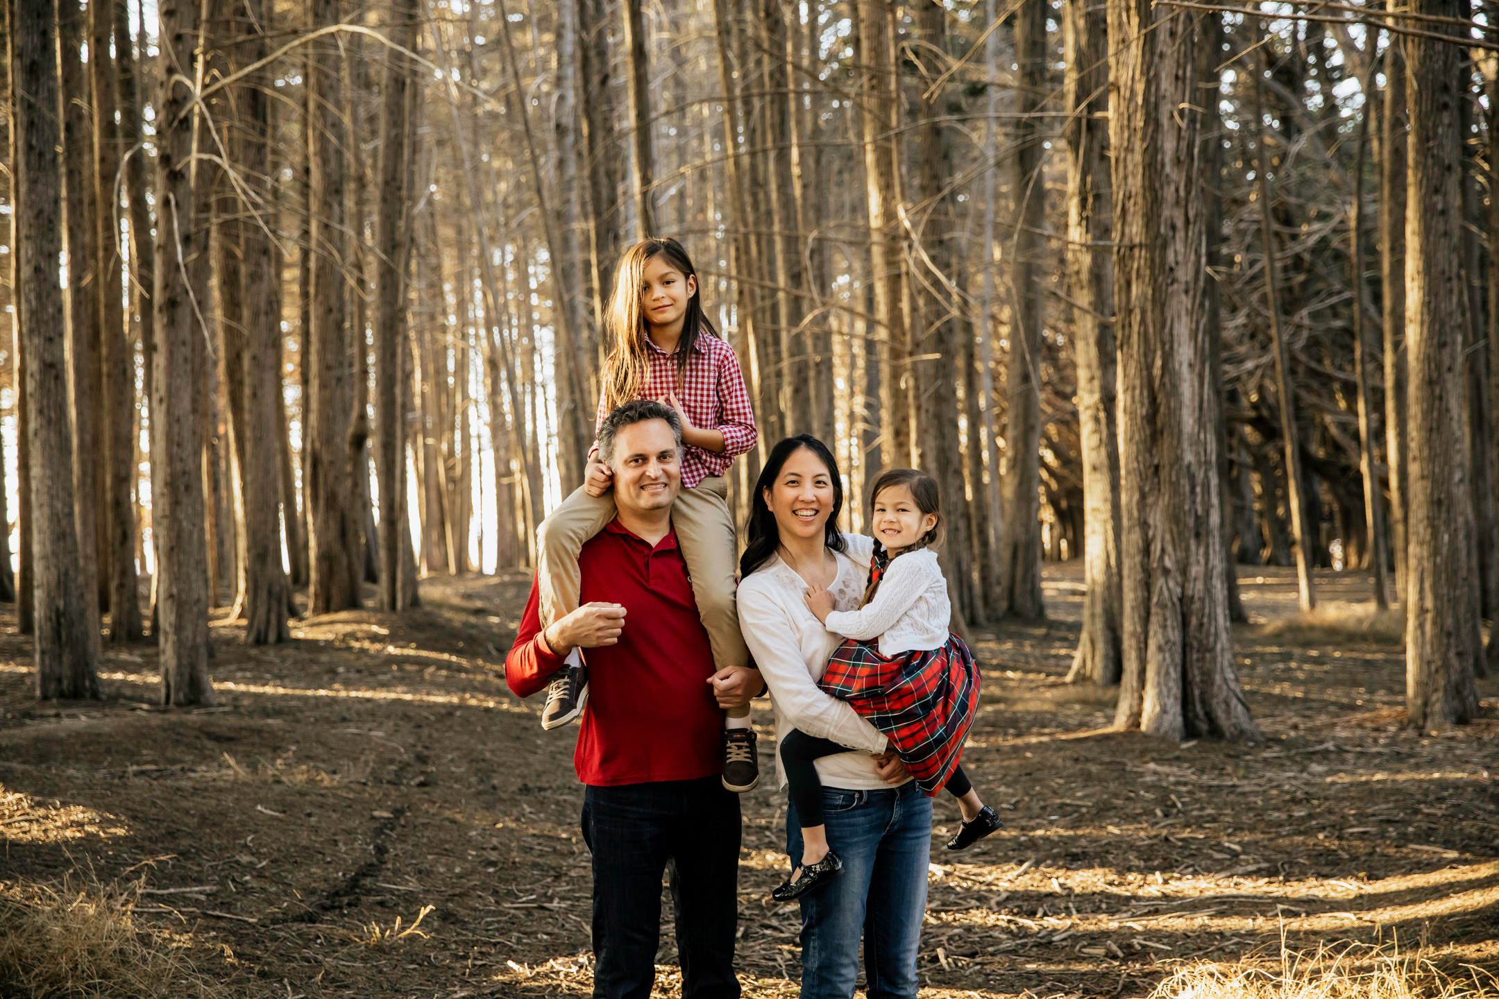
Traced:
<path fill-rule="evenodd" d="M 649 999 L 670 872 L 682 999 L 738 999 L 739 795 L 715 774 L 583 792 L 594 854 L 594 995 Z"/>

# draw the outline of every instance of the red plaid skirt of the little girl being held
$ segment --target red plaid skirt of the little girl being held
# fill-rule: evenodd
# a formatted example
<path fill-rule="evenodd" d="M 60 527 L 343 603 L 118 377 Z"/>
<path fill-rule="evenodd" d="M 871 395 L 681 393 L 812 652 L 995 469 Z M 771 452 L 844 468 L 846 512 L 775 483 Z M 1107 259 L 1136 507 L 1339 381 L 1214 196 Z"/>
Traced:
<path fill-rule="evenodd" d="M 877 643 L 844 640 L 818 686 L 884 732 L 928 795 L 952 776 L 979 710 L 979 666 L 956 635 L 893 659 Z"/>

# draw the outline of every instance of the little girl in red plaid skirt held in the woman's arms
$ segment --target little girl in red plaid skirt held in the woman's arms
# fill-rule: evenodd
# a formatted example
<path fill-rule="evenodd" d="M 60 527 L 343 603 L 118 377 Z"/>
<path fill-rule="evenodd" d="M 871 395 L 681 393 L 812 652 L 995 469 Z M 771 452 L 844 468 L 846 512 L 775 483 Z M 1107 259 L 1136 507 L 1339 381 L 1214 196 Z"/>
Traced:
<path fill-rule="evenodd" d="M 806 590 L 817 620 L 845 638 L 820 686 L 889 737 L 923 792 L 947 788 L 958 798 L 962 827 L 947 849 L 965 849 L 1000 828 L 1000 819 L 958 762 L 979 704 L 979 669 L 947 631 L 947 581 L 929 548 L 941 532 L 937 482 L 916 469 L 890 469 L 875 481 L 869 506 L 874 559 L 859 610 L 839 613 L 827 589 Z M 773 893 L 778 900 L 796 899 L 842 870 L 827 845 L 814 765 L 842 752 L 845 746 L 802 731 L 781 741 L 803 848 L 800 867 Z"/>

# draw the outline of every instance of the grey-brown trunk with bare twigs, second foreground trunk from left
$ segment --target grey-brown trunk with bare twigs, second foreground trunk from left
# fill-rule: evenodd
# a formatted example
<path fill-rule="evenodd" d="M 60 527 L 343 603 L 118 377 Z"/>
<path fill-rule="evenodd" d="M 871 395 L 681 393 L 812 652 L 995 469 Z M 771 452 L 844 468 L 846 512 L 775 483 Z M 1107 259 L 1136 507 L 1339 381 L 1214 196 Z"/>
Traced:
<path fill-rule="evenodd" d="M 201 392 L 193 355 L 205 331 L 186 261 L 208 252 L 208 225 L 195 211 L 192 69 L 198 18 L 190 0 L 160 3 L 156 111 L 156 309 L 153 338 L 151 524 L 157 551 L 162 702 L 211 704 L 208 589 L 204 575 Z M 186 79 L 184 79 L 186 76 Z M 207 171 L 199 172 L 202 183 Z"/>

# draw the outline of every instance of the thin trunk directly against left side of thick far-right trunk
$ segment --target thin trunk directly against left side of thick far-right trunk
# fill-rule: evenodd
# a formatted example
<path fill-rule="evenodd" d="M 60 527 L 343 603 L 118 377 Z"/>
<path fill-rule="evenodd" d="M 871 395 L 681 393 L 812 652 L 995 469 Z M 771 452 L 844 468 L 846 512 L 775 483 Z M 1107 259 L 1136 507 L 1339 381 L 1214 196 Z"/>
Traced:
<path fill-rule="evenodd" d="M 1406 433 L 1406 64 L 1405 39 L 1390 37 L 1385 55 L 1385 99 L 1379 141 L 1379 267 L 1384 309 L 1385 464 L 1390 467 L 1390 541 L 1394 548 L 1396 593 L 1406 599 L 1406 490 L 1409 436 Z M 1409 608 L 1408 608 L 1409 610 Z M 1406 619 L 1409 620 L 1409 617 Z"/>

